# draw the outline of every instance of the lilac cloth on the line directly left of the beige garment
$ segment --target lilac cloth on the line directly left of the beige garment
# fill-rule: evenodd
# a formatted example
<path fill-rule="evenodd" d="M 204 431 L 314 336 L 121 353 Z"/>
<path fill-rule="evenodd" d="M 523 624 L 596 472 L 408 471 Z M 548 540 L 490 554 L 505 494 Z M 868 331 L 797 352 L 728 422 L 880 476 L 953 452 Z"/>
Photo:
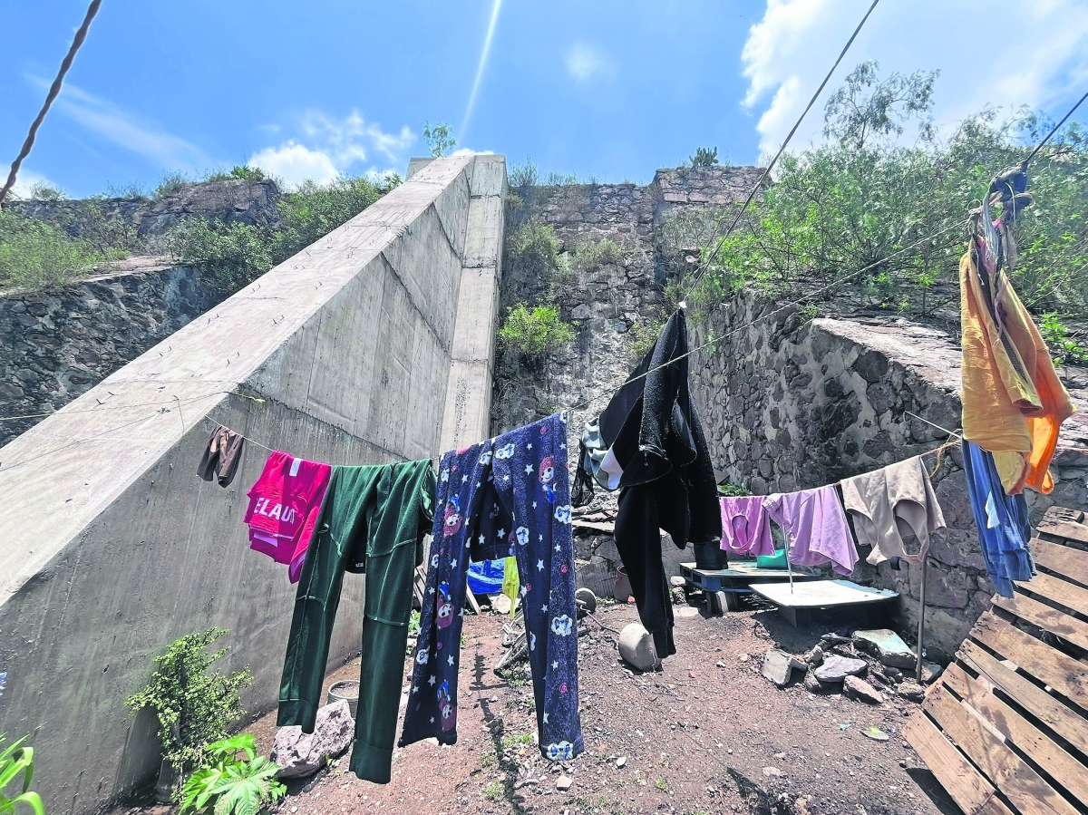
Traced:
<path fill-rule="evenodd" d="M 846 515 L 833 486 L 768 495 L 763 505 L 790 541 L 787 556 L 798 566 L 830 563 L 840 575 L 850 575 L 857 563 L 857 547 Z"/>

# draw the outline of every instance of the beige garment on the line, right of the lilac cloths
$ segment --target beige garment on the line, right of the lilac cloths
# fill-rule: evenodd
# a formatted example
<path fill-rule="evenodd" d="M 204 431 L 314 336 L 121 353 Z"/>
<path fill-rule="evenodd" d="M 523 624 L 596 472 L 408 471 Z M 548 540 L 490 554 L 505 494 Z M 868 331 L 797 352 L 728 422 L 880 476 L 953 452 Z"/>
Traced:
<path fill-rule="evenodd" d="M 929 549 L 929 533 L 944 529 L 944 515 L 922 456 L 846 479 L 842 503 L 853 517 L 857 542 L 873 547 L 865 559 L 874 566 L 893 557 L 922 563 Z M 903 546 L 903 535 L 912 534 L 919 543 L 916 554 L 907 554 Z"/>

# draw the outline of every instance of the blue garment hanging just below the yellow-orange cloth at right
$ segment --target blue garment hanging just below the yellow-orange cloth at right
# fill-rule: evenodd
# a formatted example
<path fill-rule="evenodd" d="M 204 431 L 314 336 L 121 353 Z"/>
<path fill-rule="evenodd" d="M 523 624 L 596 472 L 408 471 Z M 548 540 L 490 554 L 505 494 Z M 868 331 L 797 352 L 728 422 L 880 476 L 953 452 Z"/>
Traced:
<path fill-rule="evenodd" d="M 1028 545 L 1031 523 L 1027 499 L 1023 493 L 1007 495 L 993 456 L 966 440 L 963 442 L 963 469 L 986 570 L 998 593 L 1012 597 L 1012 581 L 1030 580 L 1036 573 Z"/>

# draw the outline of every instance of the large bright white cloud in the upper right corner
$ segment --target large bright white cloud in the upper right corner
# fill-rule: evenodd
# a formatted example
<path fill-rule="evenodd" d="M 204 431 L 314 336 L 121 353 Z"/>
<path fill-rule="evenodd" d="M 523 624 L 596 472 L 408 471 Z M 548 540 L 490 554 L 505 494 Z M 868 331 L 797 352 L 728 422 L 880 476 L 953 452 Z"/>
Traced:
<path fill-rule="evenodd" d="M 744 103 L 763 108 L 756 129 L 764 151 L 777 150 L 868 3 L 858 0 L 768 0 L 741 61 Z M 1081 0 L 918 0 L 882 3 L 857 36 L 792 147 L 818 139 L 824 102 L 855 65 L 880 74 L 940 69 L 934 115 L 951 126 L 993 104 L 1065 113 L 1088 83 L 1088 4 Z"/>

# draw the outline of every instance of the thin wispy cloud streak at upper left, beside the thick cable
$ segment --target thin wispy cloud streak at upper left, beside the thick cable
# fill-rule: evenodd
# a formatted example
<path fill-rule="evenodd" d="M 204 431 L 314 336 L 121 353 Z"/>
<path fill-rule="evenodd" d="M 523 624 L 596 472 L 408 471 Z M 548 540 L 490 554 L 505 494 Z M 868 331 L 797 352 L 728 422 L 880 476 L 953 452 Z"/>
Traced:
<path fill-rule="evenodd" d="M 48 83 L 38 77 L 27 76 L 27 79 L 42 89 L 48 87 Z M 164 170 L 194 171 L 214 163 L 199 147 L 169 133 L 162 125 L 71 83 L 64 84 L 54 108 L 102 138 L 150 159 Z"/>

